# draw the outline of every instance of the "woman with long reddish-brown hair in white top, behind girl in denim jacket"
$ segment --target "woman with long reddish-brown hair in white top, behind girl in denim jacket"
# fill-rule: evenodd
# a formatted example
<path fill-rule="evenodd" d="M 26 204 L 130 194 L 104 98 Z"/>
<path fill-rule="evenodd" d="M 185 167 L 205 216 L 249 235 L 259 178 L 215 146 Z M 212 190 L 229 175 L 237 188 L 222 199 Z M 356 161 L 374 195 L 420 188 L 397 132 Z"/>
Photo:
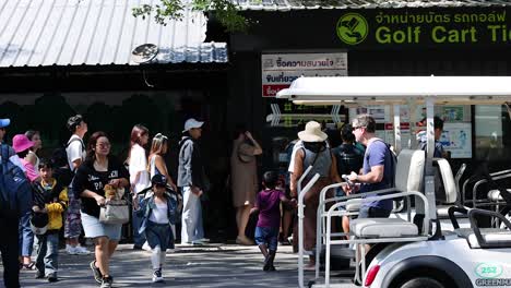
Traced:
<path fill-rule="evenodd" d="M 148 129 L 144 125 L 136 124 L 131 130 L 130 152 L 127 163 L 130 171 L 131 192 L 133 201 L 140 201 L 142 195 L 138 195 L 140 191 L 151 185 L 150 175 L 147 172 L 147 155 L 144 146 L 148 142 Z M 142 223 L 142 217 L 133 212 L 133 249 L 142 249 L 145 242 L 144 235 L 139 233 L 139 228 Z"/>

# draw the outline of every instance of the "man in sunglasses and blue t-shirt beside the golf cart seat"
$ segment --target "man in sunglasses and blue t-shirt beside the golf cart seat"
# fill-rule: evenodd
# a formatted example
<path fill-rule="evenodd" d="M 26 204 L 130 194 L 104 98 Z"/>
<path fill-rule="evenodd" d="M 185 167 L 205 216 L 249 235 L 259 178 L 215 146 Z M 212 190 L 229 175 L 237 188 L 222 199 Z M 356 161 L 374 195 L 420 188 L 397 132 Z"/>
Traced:
<path fill-rule="evenodd" d="M 352 182 L 359 183 L 360 193 L 394 185 L 395 163 L 392 152 L 385 142 L 376 136 L 375 132 L 376 121 L 371 116 L 359 115 L 353 120 L 355 140 L 367 147 L 363 172 L 360 175 L 352 172 L 348 177 Z M 352 188 L 346 185 L 345 192 L 350 193 Z M 360 206 L 358 218 L 389 217 L 392 204 L 392 200 L 365 201 Z"/>

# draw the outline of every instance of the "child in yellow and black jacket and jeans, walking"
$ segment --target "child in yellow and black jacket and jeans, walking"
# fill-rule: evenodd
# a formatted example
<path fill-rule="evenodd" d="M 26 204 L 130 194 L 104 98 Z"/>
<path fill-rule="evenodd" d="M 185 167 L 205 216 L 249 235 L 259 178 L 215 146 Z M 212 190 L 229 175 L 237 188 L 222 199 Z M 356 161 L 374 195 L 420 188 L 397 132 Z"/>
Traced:
<path fill-rule="evenodd" d="M 59 266 L 59 230 L 62 228 L 62 214 L 68 203 L 68 189 L 58 183 L 52 176 L 51 163 L 41 159 L 38 165 L 40 180 L 34 182 L 34 218 L 47 214 L 46 232 L 36 230 L 36 278 L 58 280 Z"/>

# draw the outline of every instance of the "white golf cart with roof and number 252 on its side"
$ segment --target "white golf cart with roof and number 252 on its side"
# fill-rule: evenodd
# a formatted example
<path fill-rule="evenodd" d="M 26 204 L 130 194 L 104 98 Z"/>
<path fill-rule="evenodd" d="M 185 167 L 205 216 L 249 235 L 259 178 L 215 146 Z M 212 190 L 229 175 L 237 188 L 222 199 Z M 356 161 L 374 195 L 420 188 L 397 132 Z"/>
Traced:
<path fill-rule="evenodd" d="M 456 199 L 460 185 L 449 163 L 432 157 L 433 105 L 503 105 L 511 99 L 511 77 L 300 77 L 289 88 L 281 91 L 277 98 L 306 105 L 392 105 L 394 112 L 394 148 L 399 154 L 395 188 L 335 199 L 325 199 L 326 190 L 349 183 L 323 189 L 318 208 L 316 253 L 320 255 L 324 244 L 325 272 L 324 277 L 320 277 L 317 261 L 316 277 L 309 283 L 310 287 L 343 287 L 330 277 L 331 251 L 335 245 L 356 249 L 355 281 L 364 287 L 511 287 L 511 223 L 498 212 L 460 205 Z M 400 106 L 413 108 L 417 104 L 426 105 L 426 154 L 401 145 Z M 433 163 L 442 175 L 445 199 L 450 200 L 450 205 L 443 207 L 438 207 L 436 202 Z M 302 200 L 319 176 L 301 189 L 304 178 L 298 183 L 299 287 L 305 287 Z M 404 213 L 396 209 L 389 218 L 350 220 L 349 235 L 333 233 L 333 219 L 357 214 L 356 206 L 369 194 L 378 195 L 371 201 L 393 199 L 408 204 L 403 205 Z M 412 199 L 415 207 L 409 205 Z M 504 205 L 511 206 L 511 202 Z M 440 214 L 447 214 L 452 229 L 443 229 Z M 463 217 L 468 224 L 465 228 L 459 224 Z M 499 219 L 503 228 L 482 228 L 480 217 Z M 371 249 L 366 251 L 365 244 L 371 244 Z"/>

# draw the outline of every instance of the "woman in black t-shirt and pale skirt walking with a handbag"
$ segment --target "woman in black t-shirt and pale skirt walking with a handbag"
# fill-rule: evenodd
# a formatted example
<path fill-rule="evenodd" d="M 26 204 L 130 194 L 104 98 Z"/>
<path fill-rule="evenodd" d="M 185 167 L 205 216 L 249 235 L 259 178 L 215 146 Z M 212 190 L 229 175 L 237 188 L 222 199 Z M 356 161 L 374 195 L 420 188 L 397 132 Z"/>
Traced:
<path fill-rule="evenodd" d="M 93 238 L 96 259 L 91 262 L 94 278 L 102 288 L 111 287 L 110 257 L 119 243 L 122 225 L 99 221 L 99 206 L 105 204 L 104 187 L 128 188 L 129 172 L 110 153 L 110 142 L 104 132 L 92 134 L 87 158 L 74 177 L 73 193 L 82 200 L 82 225 L 85 237 Z"/>

